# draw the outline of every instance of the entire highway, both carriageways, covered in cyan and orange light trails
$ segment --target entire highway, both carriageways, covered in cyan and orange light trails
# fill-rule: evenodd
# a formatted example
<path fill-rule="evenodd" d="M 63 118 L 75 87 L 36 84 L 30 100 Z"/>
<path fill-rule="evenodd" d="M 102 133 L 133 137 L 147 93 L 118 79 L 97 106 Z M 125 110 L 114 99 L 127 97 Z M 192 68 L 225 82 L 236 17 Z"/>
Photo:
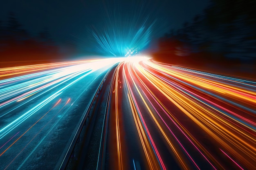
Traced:
<path fill-rule="evenodd" d="M 255 80 L 147 57 L 0 78 L 0 169 L 256 169 Z"/>

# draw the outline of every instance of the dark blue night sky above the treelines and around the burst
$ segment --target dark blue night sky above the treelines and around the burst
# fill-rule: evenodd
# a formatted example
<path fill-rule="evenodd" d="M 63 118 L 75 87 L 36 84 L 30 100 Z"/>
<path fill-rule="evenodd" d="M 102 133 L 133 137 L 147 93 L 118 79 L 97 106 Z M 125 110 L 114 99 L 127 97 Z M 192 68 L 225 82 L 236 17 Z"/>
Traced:
<path fill-rule="evenodd" d="M 1 4 L 2 21 L 12 11 L 31 35 L 47 28 L 58 43 L 71 41 L 88 46 L 90 30 L 100 32 L 115 18 L 124 21 L 139 16 L 137 21 L 143 22 L 148 17 L 148 23 L 155 21 L 151 36 L 160 37 L 202 13 L 208 0 L 8 0 Z"/>

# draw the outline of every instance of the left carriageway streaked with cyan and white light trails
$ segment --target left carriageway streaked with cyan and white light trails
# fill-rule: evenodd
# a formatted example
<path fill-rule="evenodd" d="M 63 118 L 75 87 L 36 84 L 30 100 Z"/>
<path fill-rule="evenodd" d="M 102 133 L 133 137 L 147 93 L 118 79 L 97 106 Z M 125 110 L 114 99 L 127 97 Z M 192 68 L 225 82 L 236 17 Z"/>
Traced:
<path fill-rule="evenodd" d="M 16 166 L 15 169 L 30 169 L 29 166 L 36 165 L 33 164 L 35 155 L 42 150 L 56 150 L 52 154 L 57 156 L 45 160 L 48 168 L 60 166 L 56 163 L 65 154 L 65 147 L 83 117 L 81 110 L 89 106 L 97 83 L 119 60 L 96 59 L 1 68 L 1 77 L 7 79 L 0 80 L 0 169 Z M 14 77 L 16 75 L 18 77 Z M 87 101 L 81 100 L 85 96 L 88 96 Z M 66 102 L 62 103 L 61 99 L 56 101 L 57 97 Z M 73 105 L 63 110 L 71 97 Z M 60 132 L 64 136 L 60 136 Z M 19 133 L 22 135 L 19 136 Z M 53 146 L 55 148 L 45 148 L 45 142 L 56 142 L 52 139 L 53 134 L 63 139 Z M 63 150 L 58 150 L 60 145 Z"/>

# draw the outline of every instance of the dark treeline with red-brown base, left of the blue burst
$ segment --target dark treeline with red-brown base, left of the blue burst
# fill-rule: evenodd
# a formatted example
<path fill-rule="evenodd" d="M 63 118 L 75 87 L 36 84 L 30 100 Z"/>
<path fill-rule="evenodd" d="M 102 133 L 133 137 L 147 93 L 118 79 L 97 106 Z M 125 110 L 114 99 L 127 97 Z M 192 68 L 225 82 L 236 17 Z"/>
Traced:
<path fill-rule="evenodd" d="M 58 59 L 58 46 L 47 28 L 30 35 L 22 28 L 14 13 L 0 21 L 0 62 Z"/>

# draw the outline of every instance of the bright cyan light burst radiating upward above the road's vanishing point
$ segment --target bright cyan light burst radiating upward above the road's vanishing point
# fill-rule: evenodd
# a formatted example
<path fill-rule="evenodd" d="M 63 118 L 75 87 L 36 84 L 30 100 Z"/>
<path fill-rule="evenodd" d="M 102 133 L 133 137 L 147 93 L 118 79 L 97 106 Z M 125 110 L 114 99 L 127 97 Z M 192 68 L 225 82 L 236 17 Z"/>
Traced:
<path fill-rule="evenodd" d="M 92 30 L 92 35 L 98 43 L 97 52 L 130 56 L 148 47 L 156 20 L 143 13 L 143 5 L 140 10 L 128 11 L 121 11 L 118 5 L 115 10 L 106 5 L 104 7 L 104 26 L 100 29 L 94 27 Z"/>

